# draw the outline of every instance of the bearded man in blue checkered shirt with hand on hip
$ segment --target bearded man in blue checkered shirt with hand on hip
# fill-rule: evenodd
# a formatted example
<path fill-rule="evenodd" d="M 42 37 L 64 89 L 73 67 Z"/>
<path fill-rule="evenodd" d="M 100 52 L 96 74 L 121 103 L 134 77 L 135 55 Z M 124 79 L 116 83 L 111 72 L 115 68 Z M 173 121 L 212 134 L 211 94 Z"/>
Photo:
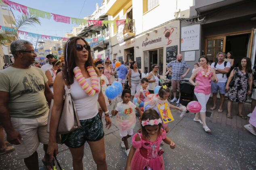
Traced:
<path fill-rule="evenodd" d="M 170 63 L 167 64 L 167 69 L 172 71 L 172 92 L 173 92 L 174 98 L 171 100 L 171 102 L 177 101 L 176 103 L 180 102 L 180 95 L 178 100 L 176 98 L 177 89 L 180 90 L 180 80 L 182 80 L 189 73 L 189 70 L 190 70 L 189 65 L 187 65 L 185 61 L 181 61 L 181 60 L 182 60 L 182 55 L 178 54 L 176 56 L 176 60 L 171 61 Z M 183 74 L 184 68 L 187 68 L 187 71 L 185 72 L 185 74 Z"/>

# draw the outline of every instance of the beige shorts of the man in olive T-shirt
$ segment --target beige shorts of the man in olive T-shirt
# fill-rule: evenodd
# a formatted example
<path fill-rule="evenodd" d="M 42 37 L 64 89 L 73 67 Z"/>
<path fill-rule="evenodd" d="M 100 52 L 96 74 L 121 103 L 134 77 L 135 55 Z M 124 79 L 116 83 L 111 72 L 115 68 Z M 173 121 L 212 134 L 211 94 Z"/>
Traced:
<path fill-rule="evenodd" d="M 39 142 L 48 144 L 49 133 L 47 133 L 48 111 L 41 117 L 34 119 L 11 117 L 15 131 L 21 134 L 23 140 L 20 145 L 13 145 L 19 158 L 28 158 L 39 146 Z"/>

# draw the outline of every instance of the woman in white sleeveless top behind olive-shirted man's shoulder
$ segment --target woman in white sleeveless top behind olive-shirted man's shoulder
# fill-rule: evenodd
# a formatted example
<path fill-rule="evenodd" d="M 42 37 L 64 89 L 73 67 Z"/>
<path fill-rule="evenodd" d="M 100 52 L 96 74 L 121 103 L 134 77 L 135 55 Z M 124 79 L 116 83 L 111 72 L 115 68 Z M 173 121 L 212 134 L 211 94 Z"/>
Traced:
<path fill-rule="evenodd" d="M 52 90 L 52 93 L 53 93 L 53 82 L 55 80 L 56 72 L 58 69 L 61 68 L 61 66 L 62 66 L 61 60 L 55 59 L 52 62 L 52 68 L 49 70 L 46 70 L 46 72 L 45 72 L 45 75 L 48 79 L 48 84 L 49 84 L 50 90 Z"/>

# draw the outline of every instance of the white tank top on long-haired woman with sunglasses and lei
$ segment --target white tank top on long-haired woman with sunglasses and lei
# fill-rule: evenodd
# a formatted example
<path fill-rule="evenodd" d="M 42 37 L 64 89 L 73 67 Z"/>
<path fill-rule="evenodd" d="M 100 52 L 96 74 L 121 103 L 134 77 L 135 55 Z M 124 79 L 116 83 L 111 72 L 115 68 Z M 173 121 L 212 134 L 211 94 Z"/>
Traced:
<path fill-rule="evenodd" d="M 91 79 L 86 78 L 86 82 L 91 86 Z M 99 80 L 99 88 L 101 90 L 101 80 Z M 76 105 L 76 110 L 78 113 L 79 120 L 90 119 L 98 114 L 98 96 L 99 92 L 95 93 L 94 96 L 89 96 L 80 86 L 76 78 L 74 78 L 74 83 L 70 86 L 71 96 Z M 65 94 L 68 93 L 68 88 L 65 86 Z"/>

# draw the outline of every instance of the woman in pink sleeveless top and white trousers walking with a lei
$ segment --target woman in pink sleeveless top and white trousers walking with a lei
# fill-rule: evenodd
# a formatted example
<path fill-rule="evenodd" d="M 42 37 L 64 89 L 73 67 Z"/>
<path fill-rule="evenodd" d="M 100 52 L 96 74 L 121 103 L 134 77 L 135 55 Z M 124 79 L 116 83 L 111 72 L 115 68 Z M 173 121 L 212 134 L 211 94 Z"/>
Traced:
<path fill-rule="evenodd" d="M 206 103 L 211 94 L 211 80 L 215 83 L 218 82 L 215 70 L 208 65 L 208 62 L 209 59 L 206 56 L 201 56 L 199 58 L 200 67 L 196 68 L 189 78 L 189 82 L 195 86 L 195 96 L 197 97 L 198 102 L 201 104 L 201 120 L 199 119 L 198 112 L 195 114 L 194 121 L 203 124 L 203 128 L 206 132 L 211 131 L 206 125 Z M 194 78 L 195 82 L 193 81 Z"/>

